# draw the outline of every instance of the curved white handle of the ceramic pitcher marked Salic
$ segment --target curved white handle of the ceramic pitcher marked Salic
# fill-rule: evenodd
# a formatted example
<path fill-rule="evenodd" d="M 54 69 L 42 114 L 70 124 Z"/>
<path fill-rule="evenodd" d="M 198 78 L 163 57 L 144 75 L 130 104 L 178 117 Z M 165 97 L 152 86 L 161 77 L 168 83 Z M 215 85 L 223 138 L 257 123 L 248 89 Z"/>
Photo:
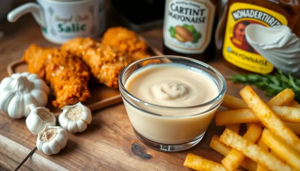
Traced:
<path fill-rule="evenodd" d="M 40 5 L 34 2 L 28 2 L 19 7 L 16 7 L 7 14 L 7 20 L 9 22 L 16 22 L 21 16 L 31 13 L 35 21 L 42 27 L 45 28 L 44 11 Z"/>

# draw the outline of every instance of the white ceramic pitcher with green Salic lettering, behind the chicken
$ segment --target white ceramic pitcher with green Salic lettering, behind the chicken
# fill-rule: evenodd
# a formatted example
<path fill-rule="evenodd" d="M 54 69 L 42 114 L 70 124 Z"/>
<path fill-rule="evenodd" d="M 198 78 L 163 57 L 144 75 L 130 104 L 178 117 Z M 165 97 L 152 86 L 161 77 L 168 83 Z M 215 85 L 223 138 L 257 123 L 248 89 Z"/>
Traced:
<path fill-rule="evenodd" d="M 7 20 L 16 22 L 26 13 L 32 13 L 43 36 L 55 44 L 79 36 L 96 37 L 105 29 L 104 0 L 37 0 L 16 7 Z"/>

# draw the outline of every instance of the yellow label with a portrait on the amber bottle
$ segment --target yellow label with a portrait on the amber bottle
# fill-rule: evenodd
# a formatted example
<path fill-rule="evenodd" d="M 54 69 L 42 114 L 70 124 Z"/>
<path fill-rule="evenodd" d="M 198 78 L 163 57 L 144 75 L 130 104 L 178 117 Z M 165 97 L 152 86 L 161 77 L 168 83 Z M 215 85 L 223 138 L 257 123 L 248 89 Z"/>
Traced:
<path fill-rule="evenodd" d="M 249 24 L 266 27 L 287 25 L 280 13 L 253 4 L 236 2 L 228 10 L 223 56 L 225 60 L 242 69 L 268 74 L 274 66 L 253 49 L 245 38 L 244 29 Z"/>

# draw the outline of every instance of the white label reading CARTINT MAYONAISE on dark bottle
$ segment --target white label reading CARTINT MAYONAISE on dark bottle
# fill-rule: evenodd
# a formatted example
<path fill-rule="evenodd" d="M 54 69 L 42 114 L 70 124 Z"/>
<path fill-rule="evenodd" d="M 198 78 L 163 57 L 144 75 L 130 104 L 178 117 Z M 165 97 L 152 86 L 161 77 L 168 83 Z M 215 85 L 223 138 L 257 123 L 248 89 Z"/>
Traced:
<path fill-rule="evenodd" d="M 204 52 L 211 41 L 214 11 L 210 0 L 166 0 L 164 45 L 179 53 Z"/>

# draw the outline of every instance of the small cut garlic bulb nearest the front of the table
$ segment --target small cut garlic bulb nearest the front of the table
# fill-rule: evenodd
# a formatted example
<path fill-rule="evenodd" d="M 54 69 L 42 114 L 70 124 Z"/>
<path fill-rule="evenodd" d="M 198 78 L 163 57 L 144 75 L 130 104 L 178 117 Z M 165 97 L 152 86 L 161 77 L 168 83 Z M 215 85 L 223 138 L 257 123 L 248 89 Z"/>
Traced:
<path fill-rule="evenodd" d="M 66 146 L 68 138 L 66 130 L 47 123 L 45 128 L 38 133 L 37 148 L 46 155 L 57 154 Z"/>

